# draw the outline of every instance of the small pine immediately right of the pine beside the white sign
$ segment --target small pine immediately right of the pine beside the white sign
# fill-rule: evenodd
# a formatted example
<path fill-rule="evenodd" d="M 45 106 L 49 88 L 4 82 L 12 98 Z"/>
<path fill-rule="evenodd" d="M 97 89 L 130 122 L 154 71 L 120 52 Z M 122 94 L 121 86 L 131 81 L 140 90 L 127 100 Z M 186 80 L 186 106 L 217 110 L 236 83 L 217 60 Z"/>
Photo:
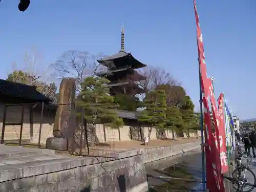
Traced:
<path fill-rule="evenodd" d="M 182 113 L 178 106 L 168 106 L 166 109 L 165 126 L 172 130 L 173 140 L 175 140 L 175 132 L 183 124 Z"/>

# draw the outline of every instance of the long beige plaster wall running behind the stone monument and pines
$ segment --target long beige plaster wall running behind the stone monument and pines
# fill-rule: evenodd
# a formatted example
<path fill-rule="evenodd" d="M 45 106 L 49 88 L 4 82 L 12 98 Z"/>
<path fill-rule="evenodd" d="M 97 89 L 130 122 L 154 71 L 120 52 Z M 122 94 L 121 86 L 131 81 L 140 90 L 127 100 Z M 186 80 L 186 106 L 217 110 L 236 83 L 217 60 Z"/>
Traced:
<path fill-rule="evenodd" d="M 2 126 L 3 126 L 3 113 L 4 108 L 0 106 L 0 137 L 2 135 Z M 7 121 L 6 122 L 20 122 L 22 115 L 22 106 L 8 106 L 7 110 Z M 29 109 L 25 108 L 24 113 L 24 125 L 23 125 L 23 134 L 22 140 L 38 143 L 39 140 L 39 127 L 40 127 L 40 110 L 33 111 L 33 122 L 30 124 L 29 118 Z M 46 139 L 53 137 L 53 125 L 54 125 L 55 113 L 54 111 L 45 110 L 44 117 L 42 119 L 42 129 L 41 129 L 41 138 L 40 144 L 46 145 Z M 90 126 L 88 126 L 90 127 Z M 105 132 L 104 132 L 105 129 Z M 114 141 L 131 141 L 131 140 L 142 140 L 148 135 L 149 127 L 139 127 L 139 126 L 128 126 L 124 125 L 118 129 L 111 129 L 110 127 L 104 127 L 103 124 L 97 124 L 96 126 L 96 140 L 98 142 L 114 142 Z M 90 132 L 90 129 L 88 128 Z M 105 136 L 104 136 L 105 133 Z M 8 125 L 5 129 L 5 140 L 18 140 L 20 135 L 20 126 L 19 125 Z M 177 137 L 177 134 L 175 134 Z M 199 132 L 199 135 L 201 133 Z M 152 139 L 157 139 L 158 133 L 155 128 L 153 128 L 151 133 Z M 173 134 L 171 131 L 165 131 L 165 136 L 167 138 L 172 138 Z M 191 137 L 194 137 L 195 134 L 191 133 Z M 183 137 L 186 137 L 186 134 L 183 134 Z M 89 138 L 90 140 L 90 138 Z"/>

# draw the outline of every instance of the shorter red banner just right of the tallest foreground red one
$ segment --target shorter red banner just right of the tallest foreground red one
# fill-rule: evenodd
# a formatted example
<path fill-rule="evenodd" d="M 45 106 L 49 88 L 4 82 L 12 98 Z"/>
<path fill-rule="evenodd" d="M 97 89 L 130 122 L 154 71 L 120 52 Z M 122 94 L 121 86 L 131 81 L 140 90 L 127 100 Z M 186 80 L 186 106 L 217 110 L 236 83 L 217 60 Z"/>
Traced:
<path fill-rule="evenodd" d="M 218 98 L 218 118 L 219 118 L 219 140 L 220 140 L 220 159 L 221 159 L 221 168 L 222 173 L 226 173 L 228 171 L 227 164 L 227 148 L 226 148 L 226 133 L 225 133 L 225 121 L 224 121 L 224 95 L 220 94 Z"/>

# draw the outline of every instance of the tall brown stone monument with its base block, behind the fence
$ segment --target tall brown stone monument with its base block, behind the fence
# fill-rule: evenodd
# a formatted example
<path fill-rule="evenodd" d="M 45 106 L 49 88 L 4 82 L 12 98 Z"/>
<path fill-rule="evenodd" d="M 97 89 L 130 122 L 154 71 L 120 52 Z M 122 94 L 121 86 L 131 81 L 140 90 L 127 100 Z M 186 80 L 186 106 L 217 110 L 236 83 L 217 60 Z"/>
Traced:
<path fill-rule="evenodd" d="M 76 127 L 76 83 L 75 79 L 63 79 L 59 87 L 58 108 L 53 126 L 53 136 L 46 140 L 52 150 L 69 150 Z"/>

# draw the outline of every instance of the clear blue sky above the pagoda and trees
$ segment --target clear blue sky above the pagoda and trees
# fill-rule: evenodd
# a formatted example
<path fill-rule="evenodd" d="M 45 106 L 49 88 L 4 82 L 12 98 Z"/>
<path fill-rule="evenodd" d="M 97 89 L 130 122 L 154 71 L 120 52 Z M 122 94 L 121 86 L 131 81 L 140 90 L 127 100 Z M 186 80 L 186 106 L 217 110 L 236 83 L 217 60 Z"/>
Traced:
<path fill-rule="evenodd" d="M 172 73 L 199 109 L 193 0 L 31 0 L 26 12 L 18 2 L 0 3 L 0 78 L 32 47 L 43 56 L 41 68 L 67 50 L 114 54 L 124 23 L 125 50 Z M 224 92 L 241 119 L 256 117 L 256 1 L 198 0 L 197 8 L 216 96 Z"/>

